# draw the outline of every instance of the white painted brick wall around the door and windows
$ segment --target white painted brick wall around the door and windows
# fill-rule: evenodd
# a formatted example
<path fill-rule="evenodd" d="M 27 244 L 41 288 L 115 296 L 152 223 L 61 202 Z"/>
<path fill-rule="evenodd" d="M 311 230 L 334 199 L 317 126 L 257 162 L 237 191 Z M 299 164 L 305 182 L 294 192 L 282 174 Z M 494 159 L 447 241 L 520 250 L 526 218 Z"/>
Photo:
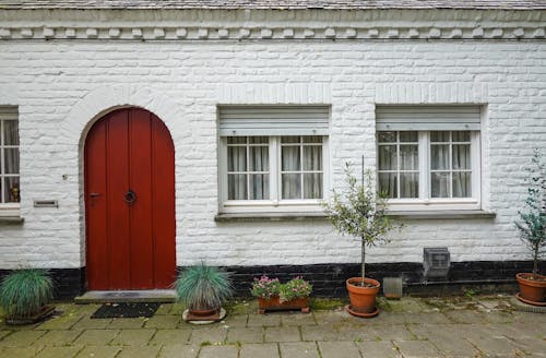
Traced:
<path fill-rule="evenodd" d="M 157 114 L 176 151 L 177 264 L 358 262 L 328 222 L 216 223 L 218 104 L 332 106 L 332 182 L 344 163 L 376 165 L 375 104 L 485 104 L 483 207 L 496 218 L 407 220 L 369 262 L 526 260 L 513 220 L 523 168 L 546 150 L 546 44 L 495 40 L 0 43 L 0 105 L 17 105 L 21 214 L 0 227 L 0 268 L 85 264 L 85 132 L 116 106 Z M 59 201 L 58 208 L 33 200 Z"/>

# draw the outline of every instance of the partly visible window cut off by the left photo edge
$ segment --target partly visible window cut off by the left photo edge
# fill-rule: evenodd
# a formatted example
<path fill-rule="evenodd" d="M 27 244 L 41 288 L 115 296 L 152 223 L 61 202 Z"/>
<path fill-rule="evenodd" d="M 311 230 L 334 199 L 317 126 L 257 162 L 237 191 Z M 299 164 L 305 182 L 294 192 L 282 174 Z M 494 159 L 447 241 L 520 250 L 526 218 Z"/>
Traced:
<path fill-rule="evenodd" d="M 19 121 L 13 106 L 0 107 L 0 215 L 19 208 Z"/>

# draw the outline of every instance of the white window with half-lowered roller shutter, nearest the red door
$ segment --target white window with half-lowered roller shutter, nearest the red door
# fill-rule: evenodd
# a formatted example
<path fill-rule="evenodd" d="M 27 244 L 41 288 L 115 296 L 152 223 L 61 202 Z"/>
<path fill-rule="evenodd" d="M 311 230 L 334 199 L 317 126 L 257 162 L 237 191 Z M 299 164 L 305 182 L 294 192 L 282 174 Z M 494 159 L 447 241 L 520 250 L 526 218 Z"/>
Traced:
<path fill-rule="evenodd" d="M 320 211 L 328 118 L 328 107 L 221 108 L 221 211 Z"/>

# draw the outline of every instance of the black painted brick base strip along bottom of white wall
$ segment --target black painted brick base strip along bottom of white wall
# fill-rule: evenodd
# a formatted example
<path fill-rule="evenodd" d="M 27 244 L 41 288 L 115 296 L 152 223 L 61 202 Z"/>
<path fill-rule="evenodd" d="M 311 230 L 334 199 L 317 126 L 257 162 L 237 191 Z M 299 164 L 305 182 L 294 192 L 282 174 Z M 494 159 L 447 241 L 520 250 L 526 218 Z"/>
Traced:
<path fill-rule="evenodd" d="M 182 270 L 183 267 L 177 267 Z M 345 279 L 360 274 L 359 264 L 311 264 L 271 266 L 227 266 L 232 274 L 236 295 L 250 296 L 250 285 L 254 277 L 262 275 L 278 277 L 286 282 L 295 276 L 304 276 L 313 285 L 314 297 L 346 297 Z M 382 281 L 383 277 L 402 277 L 404 294 L 419 296 L 451 295 L 473 290 L 476 293 L 513 293 L 514 276 L 519 272 L 531 272 L 531 261 L 467 261 L 452 262 L 449 276 L 442 281 L 426 281 L 423 265 L 414 262 L 369 263 L 366 276 Z M 539 263 L 539 271 L 546 271 L 546 262 Z M 0 270 L 0 278 L 11 270 Z M 56 299 L 67 300 L 85 290 L 85 267 L 50 268 L 55 282 Z"/>

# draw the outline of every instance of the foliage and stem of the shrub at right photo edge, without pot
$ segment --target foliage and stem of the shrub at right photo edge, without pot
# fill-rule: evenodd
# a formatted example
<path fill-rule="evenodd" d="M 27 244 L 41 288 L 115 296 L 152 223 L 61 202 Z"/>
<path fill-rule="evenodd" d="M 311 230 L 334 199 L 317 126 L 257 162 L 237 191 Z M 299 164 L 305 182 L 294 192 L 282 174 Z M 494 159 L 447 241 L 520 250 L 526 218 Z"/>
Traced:
<path fill-rule="evenodd" d="M 533 256 L 533 273 L 538 273 L 538 259 L 546 248 L 546 163 L 538 150 L 534 151 L 524 210 L 519 211 L 515 227 Z"/>

